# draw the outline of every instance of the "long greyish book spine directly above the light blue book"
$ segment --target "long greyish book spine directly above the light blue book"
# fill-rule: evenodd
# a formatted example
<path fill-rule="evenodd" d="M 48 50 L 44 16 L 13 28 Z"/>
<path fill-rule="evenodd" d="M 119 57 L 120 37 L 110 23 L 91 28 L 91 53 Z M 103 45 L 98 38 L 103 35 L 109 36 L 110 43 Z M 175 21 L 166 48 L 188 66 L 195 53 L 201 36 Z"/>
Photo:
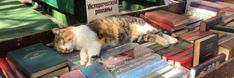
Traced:
<path fill-rule="evenodd" d="M 159 56 L 149 56 L 146 59 L 144 59 L 144 58 L 139 59 L 138 61 L 132 62 L 132 63 L 130 63 L 128 65 L 125 65 L 124 67 L 121 67 L 121 68 L 119 68 L 119 69 L 117 69 L 117 70 L 115 70 L 113 72 L 114 72 L 115 75 L 117 75 L 117 74 L 123 73 L 125 71 L 131 70 L 131 69 L 141 65 L 142 63 L 145 63 L 145 62 L 150 61 L 150 60 L 159 61 L 160 57 Z"/>

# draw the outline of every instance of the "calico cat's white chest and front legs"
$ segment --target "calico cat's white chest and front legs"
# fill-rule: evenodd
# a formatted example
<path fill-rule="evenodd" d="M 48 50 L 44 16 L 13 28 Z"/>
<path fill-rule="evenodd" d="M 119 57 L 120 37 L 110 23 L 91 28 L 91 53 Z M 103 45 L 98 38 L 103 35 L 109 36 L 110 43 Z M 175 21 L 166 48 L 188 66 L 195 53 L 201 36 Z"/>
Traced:
<path fill-rule="evenodd" d="M 101 44 L 97 41 L 96 34 L 88 28 L 86 25 L 81 25 L 73 30 L 75 49 L 80 51 L 80 64 L 90 65 L 93 60 L 92 56 L 99 55 L 101 50 Z"/>

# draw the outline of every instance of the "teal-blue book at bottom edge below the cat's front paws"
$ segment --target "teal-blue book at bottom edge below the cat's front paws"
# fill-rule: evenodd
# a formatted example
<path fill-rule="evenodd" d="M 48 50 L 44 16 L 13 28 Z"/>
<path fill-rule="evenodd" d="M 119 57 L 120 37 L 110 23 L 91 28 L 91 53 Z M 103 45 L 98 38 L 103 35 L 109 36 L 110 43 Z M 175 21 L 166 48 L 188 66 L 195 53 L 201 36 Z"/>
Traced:
<path fill-rule="evenodd" d="M 112 73 L 97 63 L 81 68 L 80 71 L 87 78 L 115 78 Z"/>

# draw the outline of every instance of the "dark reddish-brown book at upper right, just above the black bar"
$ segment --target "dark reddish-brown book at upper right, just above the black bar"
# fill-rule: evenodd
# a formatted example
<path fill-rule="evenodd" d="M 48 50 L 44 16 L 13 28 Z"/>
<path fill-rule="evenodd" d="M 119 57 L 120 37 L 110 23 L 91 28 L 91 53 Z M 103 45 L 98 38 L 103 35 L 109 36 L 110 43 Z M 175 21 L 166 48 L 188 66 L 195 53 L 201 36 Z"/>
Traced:
<path fill-rule="evenodd" d="M 223 18 L 221 15 L 211 17 L 201 22 L 200 31 L 208 31 L 209 29 L 213 28 L 215 25 L 222 23 L 223 23 Z"/>

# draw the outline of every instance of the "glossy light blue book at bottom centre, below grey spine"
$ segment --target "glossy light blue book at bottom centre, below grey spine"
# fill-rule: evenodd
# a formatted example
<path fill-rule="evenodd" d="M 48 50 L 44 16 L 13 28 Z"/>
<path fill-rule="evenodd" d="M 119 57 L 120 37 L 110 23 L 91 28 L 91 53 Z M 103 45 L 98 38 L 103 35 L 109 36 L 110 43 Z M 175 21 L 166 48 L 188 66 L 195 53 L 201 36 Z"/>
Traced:
<path fill-rule="evenodd" d="M 168 63 L 164 60 L 149 60 L 134 69 L 117 75 L 116 78 L 143 78 L 144 76 L 164 67 L 165 65 L 168 65 Z"/>

